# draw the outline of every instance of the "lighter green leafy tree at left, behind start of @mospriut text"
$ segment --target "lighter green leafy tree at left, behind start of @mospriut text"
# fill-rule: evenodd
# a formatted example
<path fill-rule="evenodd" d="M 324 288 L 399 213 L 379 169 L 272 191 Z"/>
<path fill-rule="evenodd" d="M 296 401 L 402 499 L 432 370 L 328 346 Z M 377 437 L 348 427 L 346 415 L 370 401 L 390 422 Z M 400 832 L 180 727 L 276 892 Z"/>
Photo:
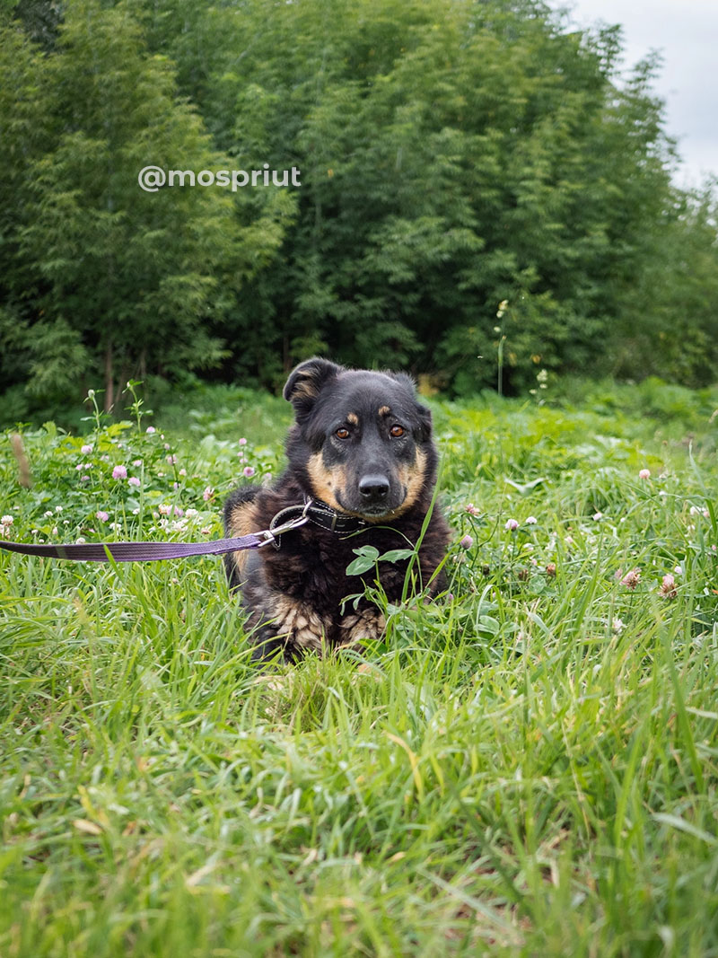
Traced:
<path fill-rule="evenodd" d="M 54 52 L 33 65 L 36 100 L 53 120 L 29 163 L 18 231 L 37 288 L 26 319 L 29 388 L 42 392 L 51 380 L 56 390 L 77 388 L 101 362 L 109 408 L 129 376 L 216 365 L 225 347 L 213 317 L 226 289 L 278 245 L 287 205 L 248 210 L 220 187 L 140 189 L 150 164 L 196 172 L 230 164 L 123 4 L 70 5 Z"/>

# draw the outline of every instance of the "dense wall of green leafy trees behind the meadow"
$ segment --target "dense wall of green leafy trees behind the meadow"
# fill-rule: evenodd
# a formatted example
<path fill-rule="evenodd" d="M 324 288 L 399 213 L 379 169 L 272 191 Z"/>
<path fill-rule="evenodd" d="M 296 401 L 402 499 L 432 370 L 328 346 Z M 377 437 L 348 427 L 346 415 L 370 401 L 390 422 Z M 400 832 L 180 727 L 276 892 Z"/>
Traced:
<path fill-rule="evenodd" d="M 509 395 L 714 379 L 716 197 L 672 185 L 657 62 L 619 82 L 617 28 L 534 0 L 0 10 L 0 422 L 128 378 L 274 388 L 317 352 L 454 396 L 499 352 Z M 264 163 L 301 187 L 137 182 Z"/>

